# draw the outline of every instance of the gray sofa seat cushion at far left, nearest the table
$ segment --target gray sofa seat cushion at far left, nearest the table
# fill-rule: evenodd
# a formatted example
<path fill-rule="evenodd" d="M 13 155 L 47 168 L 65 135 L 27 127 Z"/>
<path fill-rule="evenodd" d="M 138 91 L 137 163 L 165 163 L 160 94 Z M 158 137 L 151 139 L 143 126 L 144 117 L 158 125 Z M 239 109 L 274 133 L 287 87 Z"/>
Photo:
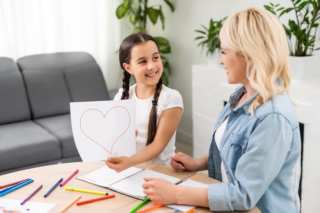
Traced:
<path fill-rule="evenodd" d="M 0 125 L 0 171 L 61 158 L 59 141 L 33 121 Z"/>

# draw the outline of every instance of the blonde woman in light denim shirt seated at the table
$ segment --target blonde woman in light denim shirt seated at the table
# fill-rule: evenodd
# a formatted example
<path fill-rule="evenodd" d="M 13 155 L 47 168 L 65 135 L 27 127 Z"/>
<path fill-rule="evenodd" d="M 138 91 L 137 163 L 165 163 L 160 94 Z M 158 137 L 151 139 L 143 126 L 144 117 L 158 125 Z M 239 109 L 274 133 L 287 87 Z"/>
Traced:
<path fill-rule="evenodd" d="M 288 96 L 291 74 L 282 23 L 265 9 L 248 8 L 228 16 L 219 38 L 227 82 L 240 85 L 218 116 L 209 154 L 193 159 L 178 152 L 171 165 L 178 172 L 209 169 L 222 183 L 191 188 L 145 178 L 144 193 L 155 204 L 211 211 L 256 205 L 262 213 L 298 213 L 301 137 Z"/>

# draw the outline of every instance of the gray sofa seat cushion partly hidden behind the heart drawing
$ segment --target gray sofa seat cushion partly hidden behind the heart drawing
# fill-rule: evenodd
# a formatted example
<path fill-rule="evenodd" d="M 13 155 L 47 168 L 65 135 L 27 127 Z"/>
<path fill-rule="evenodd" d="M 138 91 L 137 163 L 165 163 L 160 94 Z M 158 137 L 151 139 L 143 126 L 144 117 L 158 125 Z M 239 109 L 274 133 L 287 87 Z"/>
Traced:
<path fill-rule="evenodd" d="M 58 138 L 63 158 L 79 156 L 72 134 L 70 114 L 43 117 L 34 121 Z"/>

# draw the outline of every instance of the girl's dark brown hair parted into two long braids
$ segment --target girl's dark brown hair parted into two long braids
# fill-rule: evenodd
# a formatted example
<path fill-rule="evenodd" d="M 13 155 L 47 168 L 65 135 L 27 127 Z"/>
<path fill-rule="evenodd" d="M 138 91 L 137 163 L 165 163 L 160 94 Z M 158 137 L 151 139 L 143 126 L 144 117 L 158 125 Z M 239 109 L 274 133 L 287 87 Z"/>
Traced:
<path fill-rule="evenodd" d="M 135 45 L 145 43 L 147 41 L 153 41 L 157 49 L 160 53 L 159 50 L 159 44 L 158 42 L 149 34 L 147 33 L 133 33 L 129 36 L 127 36 L 121 43 L 120 45 L 120 50 L 119 50 L 119 62 L 120 66 L 123 69 L 123 78 L 122 78 L 122 96 L 121 100 L 123 99 L 128 99 L 129 98 L 129 83 L 130 83 L 130 78 L 131 74 L 127 72 L 127 70 L 123 67 L 123 63 L 130 64 L 130 59 L 131 59 L 131 50 Z M 159 79 L 158 83 L 156 84 L 156 89 L 153 95 L 153 101 L 158 101 L 159 95 L 162 89 L 162 78 Z M 155 103 L 156 103 L 155 102 Z M 156 132 L 156 106 L 152 104 L 152 108 L 150 111 L 150 118 L 149 118 L 149 126 L 148 126 L 148 137 L 147 137 L 147 146 L 152 143 L 154 136 Z"/>

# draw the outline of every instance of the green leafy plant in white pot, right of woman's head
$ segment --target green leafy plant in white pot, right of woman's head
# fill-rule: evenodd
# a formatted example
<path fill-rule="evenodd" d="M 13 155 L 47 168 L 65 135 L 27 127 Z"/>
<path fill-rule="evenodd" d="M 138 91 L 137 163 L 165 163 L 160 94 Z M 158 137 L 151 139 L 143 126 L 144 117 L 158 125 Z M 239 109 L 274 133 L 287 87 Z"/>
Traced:
<path fill-rule="evenodd" d="M 318 57 L 313 55 L 316 48 L 317 28 L 320 19 L 320 0 L 290 0 L 292 7 L 269 3 L 264 8 L 275 14 L 279 19 L 284 14 L 290 18 L 287 25 L 283 25 L 288 45 L 289 63 L 292 80 L 304 82 L 314 78 Z M 276 32 L 275 32 L 276 33 Z M 304 57 L 308 56 L 308 57 Z"/>

